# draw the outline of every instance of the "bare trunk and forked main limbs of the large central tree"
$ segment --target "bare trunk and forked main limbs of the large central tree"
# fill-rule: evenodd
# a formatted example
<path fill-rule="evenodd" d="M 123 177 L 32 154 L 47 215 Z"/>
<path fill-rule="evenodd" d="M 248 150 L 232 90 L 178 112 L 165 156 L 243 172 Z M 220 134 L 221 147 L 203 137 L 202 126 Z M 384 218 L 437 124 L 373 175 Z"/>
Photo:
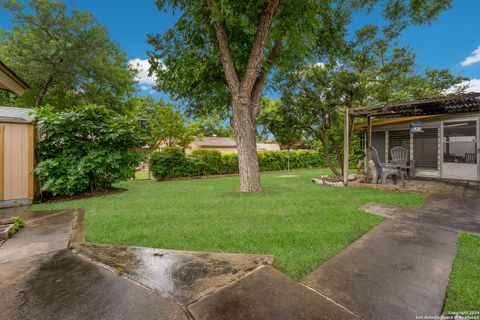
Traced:
<path fill-rule="evenodd" d="M 216 15 L 218 4 L 215 0 L 205 0 L 212 17 Z M 264 50 L 272 21 L 280 0 L 271 0 L 260 15 L 259 24 L 248 58 L 245 74 L 240 77 L 235 66 L 225 20 L 212 19 L 216 34 L 216 44 L 220 53 L 225 80 L 232 94 L 232 128 L 237 138 L 238 169 L 241 192 L 259 192 L 260 169 L 257 157 L 256 116 L 260 111 L 260 98 L 275 60 L 281 51 L 281 39 L 277 39 L 270 51 L 267 67 L 261 70 Z"/>

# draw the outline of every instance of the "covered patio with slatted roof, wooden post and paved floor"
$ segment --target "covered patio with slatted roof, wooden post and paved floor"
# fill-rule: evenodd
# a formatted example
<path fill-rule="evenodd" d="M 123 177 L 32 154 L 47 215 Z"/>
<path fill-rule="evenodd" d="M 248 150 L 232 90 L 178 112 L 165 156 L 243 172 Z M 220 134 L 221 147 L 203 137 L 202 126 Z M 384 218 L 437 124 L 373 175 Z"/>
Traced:
<path fill-rule="evenodd" d="M 409 176 L 414 178 L 407 179 L 403 189 L 478 197 L 479 121 L 480 93 L 348 109 L 345 111 L 344 158 L 347 161 L 344 169 L 349 167 L 349 135 L 353 130 L 362 130 L 366 177 L 372 173 L 370 160 L 387 168 L 395 162 L 392 149 L 401 149 L 406 153 Z M 373 159 L 372 153 L 375 153 Z M 348 182 L 347 178 L 344 177 L 345 185 L 358 186 L 358 181 Z M 362 186 L 402 188 L 391 182 L 366 183 L 369 179 L 364 182 Z"/>

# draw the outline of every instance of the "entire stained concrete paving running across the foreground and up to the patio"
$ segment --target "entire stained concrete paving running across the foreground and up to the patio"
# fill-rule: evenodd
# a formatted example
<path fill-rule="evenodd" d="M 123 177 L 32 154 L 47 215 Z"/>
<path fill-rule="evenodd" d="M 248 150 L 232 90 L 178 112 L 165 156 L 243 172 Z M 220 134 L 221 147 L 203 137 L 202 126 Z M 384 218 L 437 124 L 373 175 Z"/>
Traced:
<path fill-rule="evenodd" d="M 0 247 L 1 315 L 232 320 L 440 315 L 458 231 L 480 234 L 480 201 L 431 196 L 419 209 L 374 203 L 363 209 L 386 219 L 300 282 L 275 270 L 271 256 L 84 243 L 82 215 L 25 215 L 25 230 Z"/>

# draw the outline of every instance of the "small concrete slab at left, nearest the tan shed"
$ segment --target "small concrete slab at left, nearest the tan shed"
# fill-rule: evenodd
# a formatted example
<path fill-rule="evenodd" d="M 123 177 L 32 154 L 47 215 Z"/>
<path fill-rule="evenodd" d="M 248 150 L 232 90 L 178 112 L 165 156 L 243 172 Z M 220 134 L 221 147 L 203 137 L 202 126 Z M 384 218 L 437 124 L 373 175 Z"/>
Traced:
<path fill-rule="evenodd" d="M 67 248 L 72 220 L 73 211 L 64 210 L 27 222 L 25 228 L 0 247 L 0 263 Z"/>

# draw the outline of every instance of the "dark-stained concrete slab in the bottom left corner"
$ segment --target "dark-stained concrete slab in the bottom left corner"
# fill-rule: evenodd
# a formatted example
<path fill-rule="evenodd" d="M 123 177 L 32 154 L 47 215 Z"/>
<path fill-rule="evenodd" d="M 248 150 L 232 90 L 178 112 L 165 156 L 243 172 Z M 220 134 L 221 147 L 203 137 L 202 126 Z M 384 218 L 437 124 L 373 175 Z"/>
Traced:
<path fill-rule="evenodd" d="M 67 249 L 21 265 L 19 272 L 0 264 L 2 278 L 9 274 L 0 285 L 5 319 L 187 319 L 173 301 Z"/>

